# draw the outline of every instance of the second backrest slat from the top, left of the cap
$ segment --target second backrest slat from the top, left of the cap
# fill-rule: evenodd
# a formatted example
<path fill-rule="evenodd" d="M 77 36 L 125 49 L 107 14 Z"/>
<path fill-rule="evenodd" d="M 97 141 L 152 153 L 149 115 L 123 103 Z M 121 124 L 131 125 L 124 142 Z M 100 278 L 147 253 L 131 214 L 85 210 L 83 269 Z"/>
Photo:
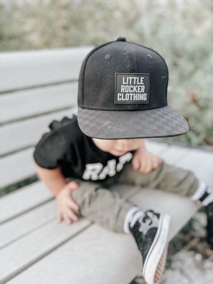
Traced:
<path fill-rule="evenodd" d="M 77 88 L 78 84 L 74 82 L 2 94 L 0 123 L 76 106 Z"/>

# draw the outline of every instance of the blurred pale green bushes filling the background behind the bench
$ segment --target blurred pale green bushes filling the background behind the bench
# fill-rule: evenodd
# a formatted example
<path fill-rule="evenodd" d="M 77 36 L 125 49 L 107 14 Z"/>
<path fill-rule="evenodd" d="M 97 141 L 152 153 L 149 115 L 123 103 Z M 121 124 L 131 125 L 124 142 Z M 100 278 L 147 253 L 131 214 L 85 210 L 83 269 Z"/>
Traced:
<path fill-rule="evenodd" d="M 1 51 L 98 45 L 118 36 L 158 51 L 169 69 L 168 103 L 190 126 L 174 139 L 213 145 L 211 0 L 0 0 L 0 5 Z"/>

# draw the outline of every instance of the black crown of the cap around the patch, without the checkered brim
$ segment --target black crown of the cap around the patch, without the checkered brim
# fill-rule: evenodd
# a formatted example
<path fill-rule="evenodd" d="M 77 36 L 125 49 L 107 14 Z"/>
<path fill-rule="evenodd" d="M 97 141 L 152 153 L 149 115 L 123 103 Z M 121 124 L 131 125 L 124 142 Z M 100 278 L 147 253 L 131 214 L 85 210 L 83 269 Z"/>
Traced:
<path fill-rule="evenodd" d="M 148 104 L 115 104 L 115 74 L 150 74 Z M 167 104 L 168 71 L 155 51 L 125 41 L 97 47 L 84 60 L 79 78 L 78 104 L 96 110 L 148 110 Z"/>

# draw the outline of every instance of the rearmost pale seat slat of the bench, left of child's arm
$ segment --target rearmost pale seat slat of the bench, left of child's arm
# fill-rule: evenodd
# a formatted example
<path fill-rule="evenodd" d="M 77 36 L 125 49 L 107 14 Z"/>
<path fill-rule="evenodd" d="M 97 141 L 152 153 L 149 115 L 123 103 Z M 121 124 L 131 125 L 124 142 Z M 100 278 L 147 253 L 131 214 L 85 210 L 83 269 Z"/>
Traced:
<path fill-rule="evenodd" d="M 44 183 L 38 181 L 0 198 L 0 223 L 53 199 Z"/>

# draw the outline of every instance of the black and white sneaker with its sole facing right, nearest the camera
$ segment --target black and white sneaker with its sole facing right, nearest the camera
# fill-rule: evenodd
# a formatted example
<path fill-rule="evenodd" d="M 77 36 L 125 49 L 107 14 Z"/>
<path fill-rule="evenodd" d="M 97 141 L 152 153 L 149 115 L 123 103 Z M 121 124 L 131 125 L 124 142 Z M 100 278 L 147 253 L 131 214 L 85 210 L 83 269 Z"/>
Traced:
<path fill-rule="evenodd" d="M 148 284 L 157 284 L 165 267 L 169 220 L 167 214 L 148 210 L 130 228 L 143 258 L 143 276 Z"/>

